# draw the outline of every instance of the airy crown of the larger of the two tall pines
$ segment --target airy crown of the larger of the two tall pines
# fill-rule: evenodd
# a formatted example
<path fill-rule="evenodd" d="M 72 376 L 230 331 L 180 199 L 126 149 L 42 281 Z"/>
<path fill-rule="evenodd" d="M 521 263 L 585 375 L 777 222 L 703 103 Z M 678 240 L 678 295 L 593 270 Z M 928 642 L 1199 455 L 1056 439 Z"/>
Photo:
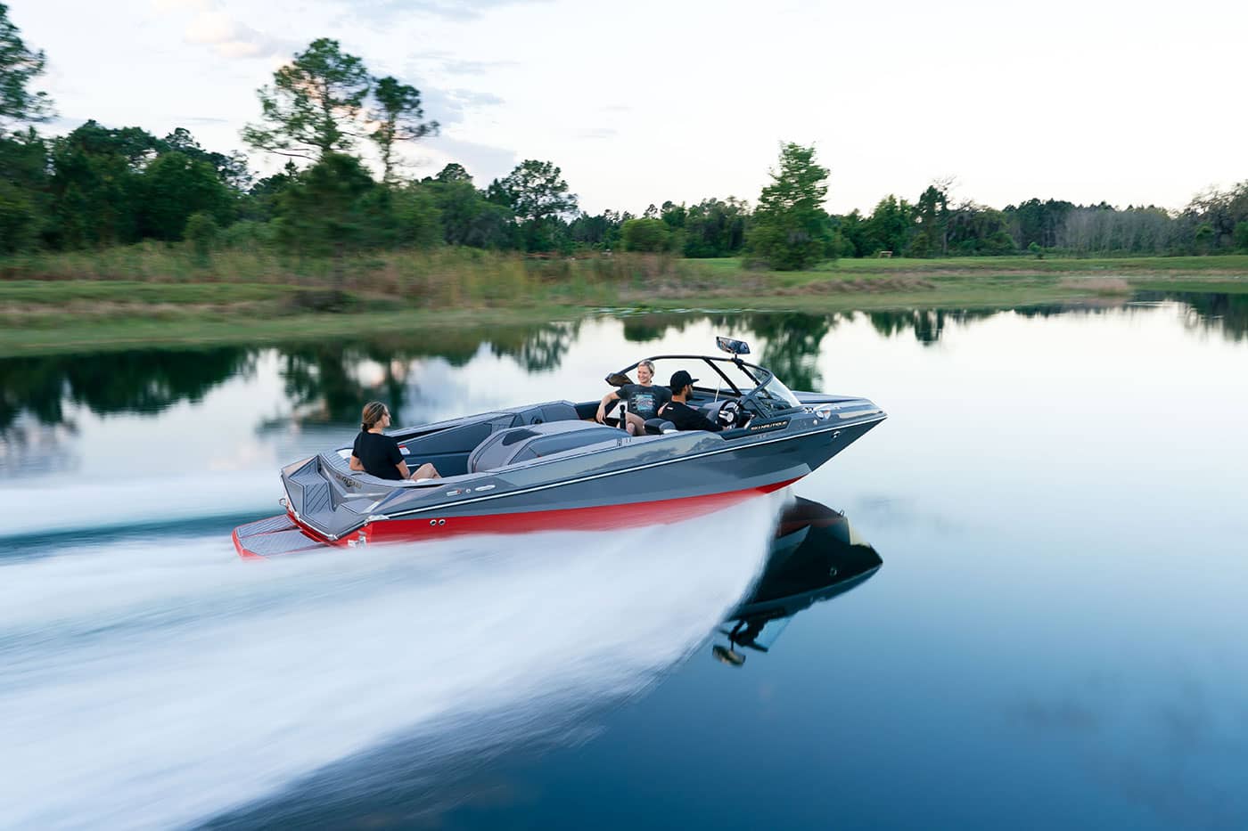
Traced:
<path fill-rule="evenodd" d="M 349 150 L 371 85 L 361 59 L 318 37 L 273 72 L 272 85 L 257 90 L 262 124 L 247 125 L 243 141 L 300 158 Z"/>

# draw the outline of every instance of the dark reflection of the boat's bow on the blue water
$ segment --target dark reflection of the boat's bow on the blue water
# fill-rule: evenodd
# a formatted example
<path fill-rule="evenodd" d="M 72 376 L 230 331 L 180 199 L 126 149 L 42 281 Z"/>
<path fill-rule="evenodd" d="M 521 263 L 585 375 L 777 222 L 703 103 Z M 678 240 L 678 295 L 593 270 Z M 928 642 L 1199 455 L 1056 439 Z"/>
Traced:
<path fill-rule="evenodd" d="M 795 614 L 860 585 L 882 563 L 845 514 L 799 497 L 780 517 L 758 585 L 719 630 L 728 645 L 715 644 L 713 654 L 740 666 L 738 649 L 768 651 Z"/>

